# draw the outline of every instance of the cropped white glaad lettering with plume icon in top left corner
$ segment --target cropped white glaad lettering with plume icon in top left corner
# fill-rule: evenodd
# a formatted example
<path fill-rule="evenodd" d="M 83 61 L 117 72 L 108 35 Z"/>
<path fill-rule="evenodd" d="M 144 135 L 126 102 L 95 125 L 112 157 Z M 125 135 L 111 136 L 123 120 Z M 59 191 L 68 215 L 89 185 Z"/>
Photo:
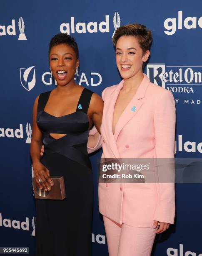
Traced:
<path fill-rule="evenodd" d="M 25 36 L 25 23 L 22 17 L 19 18 L 18 20 L 18 27 L 20 30 L 20 35 L 18 37 L 18 40 L 27 40 Z M 15 36 L 16 35 L 16 30 L 15 30 L 15 20 L 12 20 L 12 25 L 8 25 L 7 28 L 6 26 L 0 26 L 0 36 L 6 36 L 6 32 L 9 36 Z"/>

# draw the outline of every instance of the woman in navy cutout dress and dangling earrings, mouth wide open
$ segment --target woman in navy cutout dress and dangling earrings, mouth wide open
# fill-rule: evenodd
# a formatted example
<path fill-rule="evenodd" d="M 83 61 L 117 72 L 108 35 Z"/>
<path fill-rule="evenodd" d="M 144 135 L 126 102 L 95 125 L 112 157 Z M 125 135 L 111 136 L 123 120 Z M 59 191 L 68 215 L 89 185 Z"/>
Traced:
<path fill-rule="evenodd" d="M 79 53 L 74 38 L 54 36 L 49 60 L 57 87 L 35 100 L 30 154 L 40 189 L 50 191 L 51 176 L 63 176 L 66 198 L 35 200 L 36 255 L 90 256 L 93 183 L 87 139 L 93 123 L 100 131 L 103 101 L 75 83 Z"/>

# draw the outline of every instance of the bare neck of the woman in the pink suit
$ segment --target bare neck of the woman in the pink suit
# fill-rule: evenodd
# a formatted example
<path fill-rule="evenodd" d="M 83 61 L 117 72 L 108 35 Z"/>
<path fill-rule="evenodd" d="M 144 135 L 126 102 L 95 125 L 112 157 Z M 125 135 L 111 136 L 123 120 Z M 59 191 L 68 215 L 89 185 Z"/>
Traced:
<path fill-rule="evenodd" d="M 124 79 L 124 85 L 122 90 L 125 90 L 125 92 L 130 92 L 133 90 L 137 90 L 137 88 L 140 86 L 142 80 L 144 78 L 144 74 L 141 72 L 138 72 L 135 74 L 135 76 L 130 77 L 128 79 Z"/>

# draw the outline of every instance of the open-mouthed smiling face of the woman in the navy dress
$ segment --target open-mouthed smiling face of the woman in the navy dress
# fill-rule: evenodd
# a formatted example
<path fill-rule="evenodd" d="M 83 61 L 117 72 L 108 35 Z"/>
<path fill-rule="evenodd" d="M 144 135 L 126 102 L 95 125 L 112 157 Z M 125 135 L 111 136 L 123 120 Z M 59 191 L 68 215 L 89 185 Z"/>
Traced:
<path fill-rule="evenodd" d="M 74 81 L 75 69 L 79 66 L 79 60 L 72 47 L 66 44 L 53 46 L 49 59 L 50 69 L 57 85 L 64 86 Z"/>

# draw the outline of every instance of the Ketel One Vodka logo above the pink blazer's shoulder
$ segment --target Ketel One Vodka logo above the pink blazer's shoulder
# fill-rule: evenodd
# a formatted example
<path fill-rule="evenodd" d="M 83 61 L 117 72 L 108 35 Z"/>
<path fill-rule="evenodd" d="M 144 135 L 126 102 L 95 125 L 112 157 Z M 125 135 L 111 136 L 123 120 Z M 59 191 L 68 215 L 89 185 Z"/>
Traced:
<path fill-rule="evenodd" d="M 147 76 L 154 84 L 172 92 L 194 92 L 192 85 L 202 85 L 202 66 L 166 66 L 147 64 Z"/>

